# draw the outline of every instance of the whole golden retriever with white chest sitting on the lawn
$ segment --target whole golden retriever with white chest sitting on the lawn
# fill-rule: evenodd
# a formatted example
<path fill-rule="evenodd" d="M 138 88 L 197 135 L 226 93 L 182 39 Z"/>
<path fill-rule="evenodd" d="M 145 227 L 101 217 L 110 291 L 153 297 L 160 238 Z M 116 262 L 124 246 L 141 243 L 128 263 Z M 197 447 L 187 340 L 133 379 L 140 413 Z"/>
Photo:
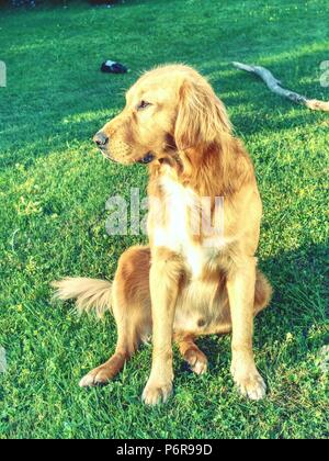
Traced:
<path fill-rule="evenodd" d="M 123 112 L 94 140 L 109 159 L 147 164 L 148 194 L 158 202 L 150 200 L 149 245 L 122 256 L 113 283 L 79 278 L 54 283 L 59 299 L 77 299 L 80 311 L 111 308 L 117 324 L 115 353 L 80 385 L 112 380 L 152 334 L 143 400 L 166 402 L 173 382 L 172 341 L 201 374 L 207 358 L 195 338 L 232 331 L 234 381 L 245 396 L 262 398 L 266 387 L 252 351 L 253 317 L 272 292 L 254 257 L 262 203 L 252 162 L 224 104 L 192 68 L 159 67 L 128 90 Z M 203 198 L 212 225 L 195 232 Z M 222 227 L 213 225 L 217 198 L 224 198 Z"/>

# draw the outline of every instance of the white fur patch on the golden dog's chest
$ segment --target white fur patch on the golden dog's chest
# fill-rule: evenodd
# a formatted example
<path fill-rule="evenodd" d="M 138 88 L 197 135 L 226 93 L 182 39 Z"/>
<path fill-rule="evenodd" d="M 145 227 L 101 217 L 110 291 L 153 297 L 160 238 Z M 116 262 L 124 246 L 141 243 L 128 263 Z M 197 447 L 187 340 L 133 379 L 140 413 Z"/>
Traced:
<path fill-rule="evenodd" d="M 154 228 L 154 244 L 183 257 L 192 277 L 197 279 L 214 260 L 219 248 L 198 240 L 201 200 L 190 189 L 168 177 L 161 179 L 162 201 L 159 203 L 164 224 Z"/>

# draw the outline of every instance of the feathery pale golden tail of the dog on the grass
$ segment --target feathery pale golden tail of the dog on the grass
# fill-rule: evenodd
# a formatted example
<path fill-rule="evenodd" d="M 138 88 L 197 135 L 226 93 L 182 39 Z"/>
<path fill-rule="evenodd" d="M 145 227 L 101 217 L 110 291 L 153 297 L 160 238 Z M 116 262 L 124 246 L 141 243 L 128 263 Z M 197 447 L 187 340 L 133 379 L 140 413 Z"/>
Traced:
<path fill-rule="evenodd" d="M 112 283 L 107 280 L 84 278 L 67 278 L 52 283 L 56 290 L 54 299 L 76 300 L 80 314 L 94 311 L 102 318 L 106 311 L 112 310 Z"/>

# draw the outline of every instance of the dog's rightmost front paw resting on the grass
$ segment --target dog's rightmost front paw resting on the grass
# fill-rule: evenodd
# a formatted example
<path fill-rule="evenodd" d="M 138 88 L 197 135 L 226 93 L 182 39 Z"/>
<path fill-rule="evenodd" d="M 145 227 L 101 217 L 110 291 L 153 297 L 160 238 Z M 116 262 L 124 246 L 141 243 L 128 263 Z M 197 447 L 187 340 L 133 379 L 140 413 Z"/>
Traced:
<path fill-rule="evenodd" d="M 240 393 L 251 401 L 261 401 L 266 395 L 266 384 L 254 367 L 250 370 L 239 371 L 231 369 L 234 381 Z"/>

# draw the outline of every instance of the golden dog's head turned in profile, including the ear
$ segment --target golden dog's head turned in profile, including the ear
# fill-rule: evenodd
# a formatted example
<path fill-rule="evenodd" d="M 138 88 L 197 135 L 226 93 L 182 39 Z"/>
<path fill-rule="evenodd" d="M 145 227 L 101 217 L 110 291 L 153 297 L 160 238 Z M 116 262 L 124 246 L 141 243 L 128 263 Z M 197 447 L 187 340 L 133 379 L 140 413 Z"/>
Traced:
<path fill-rule="evenodd" d="M 231 125 L 208 82 L 190 67 L 164 66 L 145 74 L 126 93 L 123 112 L 94 142 L 120 164 L 148 164 L 203 151 Z"/>

